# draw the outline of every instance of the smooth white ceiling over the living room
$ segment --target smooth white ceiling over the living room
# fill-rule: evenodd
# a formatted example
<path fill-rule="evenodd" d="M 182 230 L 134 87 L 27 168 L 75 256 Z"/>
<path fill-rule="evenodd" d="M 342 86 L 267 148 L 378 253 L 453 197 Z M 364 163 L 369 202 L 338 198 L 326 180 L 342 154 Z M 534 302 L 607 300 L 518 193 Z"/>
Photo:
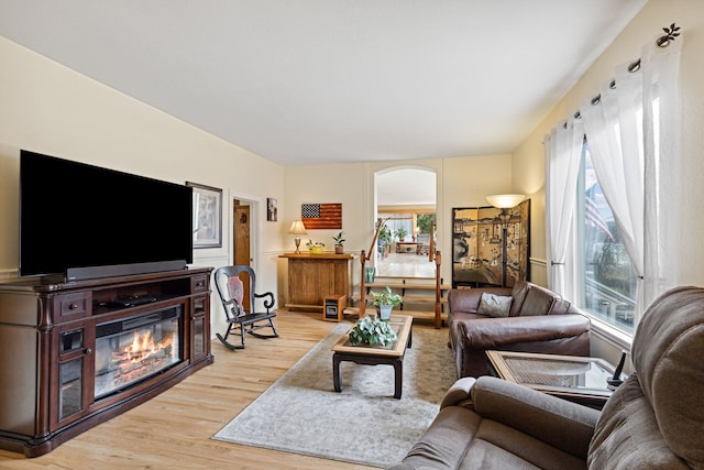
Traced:
<path fill-rule="evenodd" d="M 647 0 L 0 0 L 0 35 L 285 166 L 510 153 Z"/>

